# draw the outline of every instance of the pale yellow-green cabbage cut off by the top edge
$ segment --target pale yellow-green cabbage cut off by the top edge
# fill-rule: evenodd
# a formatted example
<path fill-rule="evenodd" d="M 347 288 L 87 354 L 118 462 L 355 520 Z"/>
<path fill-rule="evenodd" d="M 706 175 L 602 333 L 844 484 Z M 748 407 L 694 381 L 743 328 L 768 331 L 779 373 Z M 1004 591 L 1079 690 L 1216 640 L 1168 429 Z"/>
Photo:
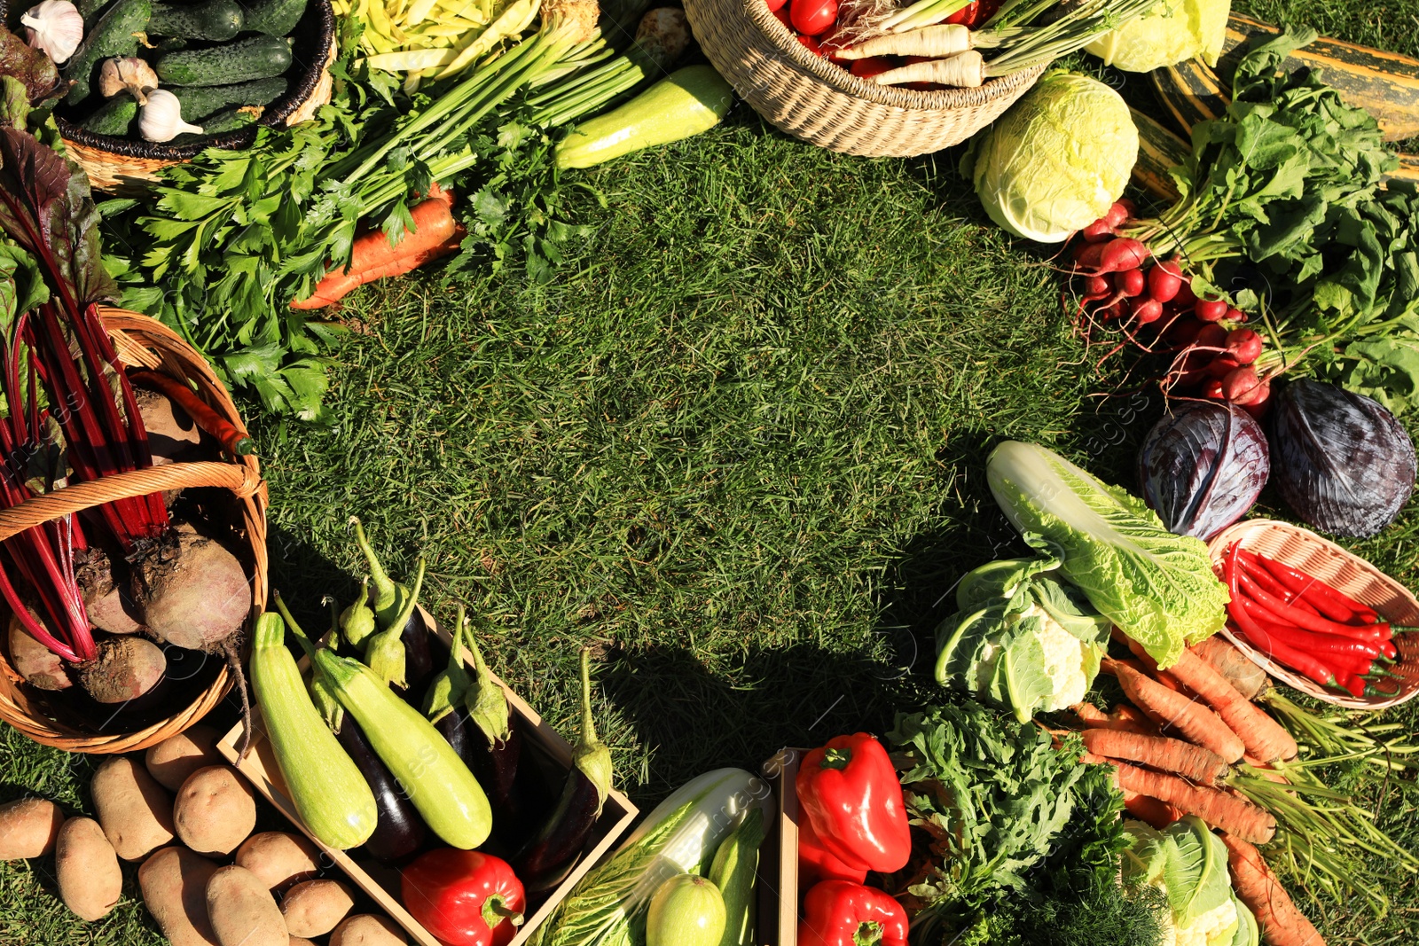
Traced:
<path fill-rule="evenodd" d="M 1084 51 L 1125 72 L 1148 72 L 1193 57 L 1216 65 L 1230 11 L 1230 0 L 1162 0 L 1148 16 L 1105 33 Z"/>

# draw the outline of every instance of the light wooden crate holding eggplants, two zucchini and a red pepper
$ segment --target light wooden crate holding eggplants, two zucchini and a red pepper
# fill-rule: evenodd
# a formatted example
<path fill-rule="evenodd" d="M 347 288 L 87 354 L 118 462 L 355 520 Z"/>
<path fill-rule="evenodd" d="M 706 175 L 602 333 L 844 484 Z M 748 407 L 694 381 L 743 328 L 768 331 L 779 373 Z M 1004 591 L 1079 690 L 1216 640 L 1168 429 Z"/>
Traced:
<path fill-rule="evenodd" d="M 420 608 L 423 610 L 423 608 Z M 451 645 L 453 638 L 448 630 L 437 624 L 433 617 L 424 611 L 424 623 L 434 628 L 438 640 L 444 642 L 446 647 Z M 301 660 L 301 669 L 307 668 L 307 660 Z M 470 671 L 473 669 L 470 664 Z M 508 695 L 508 705 L 511 711 L 518 716 L 515 725 L 522 726 L 524 743 L 522 752 L 526 753 L 532 750 L 539 753 L 543 759 L 549 760 L 558 766 L 562 772 L 572 767 L 572 746 L 558 735 L 542 718 L 522 701 L 512 689 L 508 688 L 501 679 L 494 677 L 494 681 L 502 686 L 502 692 Z M 244 774 L 257 791 L 260 791 L 265 798 L 274 804 L 281 814 L 291 820 L 291 823 L 298 827 L 307 837 L 319 845 L 321 851 L 339 867 L 346 877 L 349 877 L 365 894 L 373 899 L 385 913 L 387 913 L 396 923 L 409 932 L 410 937 L 420 946 L 441 946 L 433 935 L 426 930 L 419 922 L 409 915 L 409 911 L 403 908 L 399 902 L 399 872 L 386 868 L 376 861 L 355 861 L 348 852 L 338 851 L 335 848 L 321 844 L 301 823 L 299 816 L 295 813 L 295 806 L 291 804 L 291 798 L 287 796 L 285 780 L 281 777 L 281 772 L 275 764 L 275 757 L 271 752 L 271 743 L 267 740 L 265 725 L 261 719 L 261 711 L 257 706 L 251 708 L 251 722 L 254 735 L 251 739 L 251 752 L 238 764 L 237 763 L 237 745 L 241 742 L 243 725 L 238 722 L 231 730 L 221 738 L 217 743 L 217 750 L 233 763 L 241 774 Z M 612 850 L 612 845 L 626 833 L 631 821 L 640 811 L 634 804 L 630 803 L 620 791 L 612 789 L 612 793 L 606 798 L 606 807 L 602 810 L 602 817 L 596 823 L 596 828 L 592 833 L 592 847 L 582 857 L 582 859 L 572 868 L 566 879 L 552 891 L 542 906 L 538 908 L 535 913 L 526 918 L 522 926 L 518 929 L 518 935 L 512 939 L 508 946 L 522 946 L 531 936 L 532 932 L 542 925 L 542 922 L 552 913 L 562 899 L 570 894 L 576 882 L 592 869 L 602 857 Z"/>

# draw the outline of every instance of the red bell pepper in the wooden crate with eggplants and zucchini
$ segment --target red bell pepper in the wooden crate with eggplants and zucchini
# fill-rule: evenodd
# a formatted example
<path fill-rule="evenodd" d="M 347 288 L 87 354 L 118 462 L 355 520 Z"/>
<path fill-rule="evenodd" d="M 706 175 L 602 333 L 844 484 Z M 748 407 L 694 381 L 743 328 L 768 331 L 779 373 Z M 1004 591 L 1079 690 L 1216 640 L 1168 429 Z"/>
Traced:
<path fill-rule="evenodd" d="M 437 848 L 404 868 L 404 909 L 450 946 L 507 946 L 526 896 L 512 867 L 491 854 Z"/>

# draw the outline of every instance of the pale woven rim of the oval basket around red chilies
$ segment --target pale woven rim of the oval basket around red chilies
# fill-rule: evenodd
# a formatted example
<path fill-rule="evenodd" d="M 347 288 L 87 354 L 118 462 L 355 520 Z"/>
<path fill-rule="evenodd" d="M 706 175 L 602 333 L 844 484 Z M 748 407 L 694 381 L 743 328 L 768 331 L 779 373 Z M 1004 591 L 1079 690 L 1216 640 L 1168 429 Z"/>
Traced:
<path fill-rule="evenodd" d="M 1243 519 L 1242 522 L 1235 522 L 1222 532 L 1219 532 L 1208 543 L 1208 556 L 1212 560 L 1213 567 L 1220 567 L 1222 556 L 1227 549 L 1227 546 L 1230 546 L 1233 542 L 1242 542 L 1243 547 L 1246 547 L 1249 539 L 1254 540 L 1256 536 L 1270 532 L 1296 538 L 1305 545 L 1314 546 L 1320 553 L 1328 557 L 1354 566 L 1358 572 L 1361 572 L 1375 583 L 1386 586 L 1391 591 L 1395 593 L 1396 597 L 1405 601 L 1405 604 L 1409 608 L 1412 608 L 1415 614 L 1419 614 L 1419 599 L 1416 599 L 1413 593 L 1409 591 L 1409 589 L 1406 589 L 1402 583 L 1385 574 L 1382 570 L 1379 570 L 1365 559 L 1359 557 L 1354 552 L 1342 549 L 1330 539 L 1325 539 L 1324 536 L 1317 535 L 1310 529 L 1293 525 L 1290 522 L 1281 522 L 1279 519 Z M 1357 600 L 1369 604 L 1369 601 L 1364 601 L 1362 599 Z M 1379 610 L 1379 607 L 1375 604 L 1371 604 L 1371 607 Z M 1388 617 L 1385 611 L 1381 611 L 1381 616 Z M 1349 694 L 1337 694 L 1335 691 L 1320 686 L 1314 681 L 1277 664 L 1276 661 L 1270 660 L 1266 654 L 1257 651 L 1254 647 L 1247 644 L 1244 640 L 1242 640 L 1237 634 L 1232 631 L 1230 620 L 1227 621 L 1226 625 L 1223 625 L 1220 633 L 1227 641 L 1232 642 L 1233 647 L 1242 651 L 1242 654 L 1246 655 L 1247 660 L 1250 660 L 1253 664 L 1264 669 L 1271 677 L 1280 679 L 1281 682 L 1294 689 L 1298 689 L 1310 696 L 1314 696 L 1315 699 L 1332 703 L 1335 706 L 1344 706 L 1347 709 L 1379 711 L 1379 709 L 1388 709 L 1391 706 L 1398 706 L 1403 702 L 1413 699 L 1415 696 L 1419 696 L 1419 681 L 1402 684 L 1399 692 L 1391 696 L 1352 696 Z M 1396 641 L 1399 638 L 1413 640 L 1416 637 L 1419 637 L 1419 633 L 1405 631 L 1396 635 L 1395 640 Z M 1402 661 L 1408 664 L 1408 657 L 1405 657 L 1403 654 L 1402 654 Z"/>

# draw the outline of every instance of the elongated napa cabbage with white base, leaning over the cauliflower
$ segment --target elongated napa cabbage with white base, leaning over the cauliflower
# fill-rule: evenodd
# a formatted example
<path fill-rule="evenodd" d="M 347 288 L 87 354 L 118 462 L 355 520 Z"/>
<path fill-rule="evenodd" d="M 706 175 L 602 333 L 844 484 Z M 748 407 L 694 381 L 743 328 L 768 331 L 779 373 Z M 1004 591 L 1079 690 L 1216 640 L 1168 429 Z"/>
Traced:
<path fill-rule="evenodd" d="M 1025 540 L 1057 556 L 1060 576 L 1161 667 L 1226 623 L 1227 590 L 1208 546 L 1168 532 L 1141 499 L 1013 440 L 990 452 L 986 479 Z"/>

